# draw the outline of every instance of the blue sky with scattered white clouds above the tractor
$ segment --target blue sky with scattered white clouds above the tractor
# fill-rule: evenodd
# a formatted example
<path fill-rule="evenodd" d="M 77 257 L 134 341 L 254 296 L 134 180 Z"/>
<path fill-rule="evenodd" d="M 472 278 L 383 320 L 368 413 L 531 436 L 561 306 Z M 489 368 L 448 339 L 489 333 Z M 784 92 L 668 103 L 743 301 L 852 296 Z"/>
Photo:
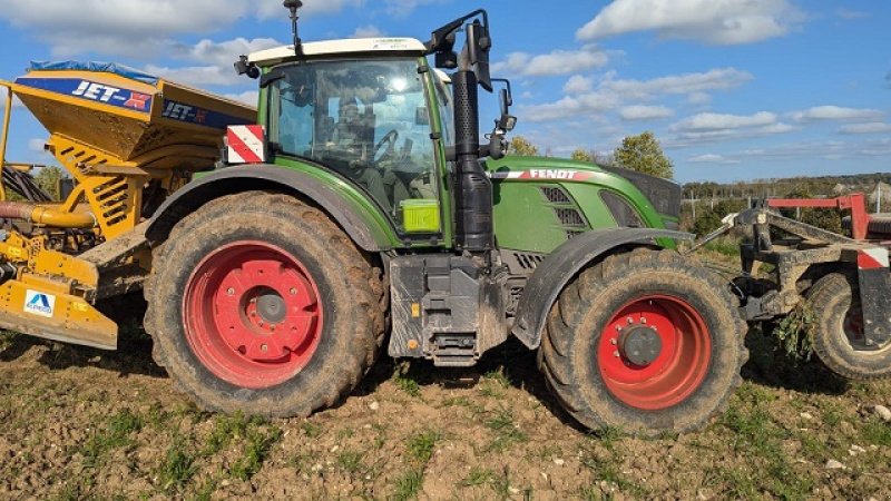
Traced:
<path fill-rule="evenodd" d="M 549 155 L 610 151 L 652 130 L 682 183 L 891 171 L 888 1 L 304 4 L 305 41 L 423 41 L 487 9 L 492 72 L 513 81 L 515 135 Z M 0 0 L 0 79 L 31 60 L 116 61 L 251 102 L 256 81 L 232 63 L 290 39 L 281 0 Z M 7 159 L 51 161 L 46 137 L 13 105 Z"/>

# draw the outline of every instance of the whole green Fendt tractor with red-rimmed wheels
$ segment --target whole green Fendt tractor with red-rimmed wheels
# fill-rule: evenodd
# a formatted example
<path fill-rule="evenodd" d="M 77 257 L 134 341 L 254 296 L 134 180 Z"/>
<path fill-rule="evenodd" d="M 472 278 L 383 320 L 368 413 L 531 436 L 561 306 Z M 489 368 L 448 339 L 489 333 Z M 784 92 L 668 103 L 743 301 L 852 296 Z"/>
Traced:
<path fill-rule="evenodd" d="M 301 2 L 285 7 L 294 45 L 236 63 L 258 79 L 258 125 L 231 128 L 227 159 L 146 230 L 145 325 L 183 391 L 213 411 L 305 416 L 384 344 L 467 367 L 513 335 L 585 426 L 683 432 L 721 412 L 745 324 L 728 284 L 674 250 L 692 238 L 678 186 L 506 157 L 507 90 L 481 145 L 482 10 L 427 43 L 303 43 Z"/>

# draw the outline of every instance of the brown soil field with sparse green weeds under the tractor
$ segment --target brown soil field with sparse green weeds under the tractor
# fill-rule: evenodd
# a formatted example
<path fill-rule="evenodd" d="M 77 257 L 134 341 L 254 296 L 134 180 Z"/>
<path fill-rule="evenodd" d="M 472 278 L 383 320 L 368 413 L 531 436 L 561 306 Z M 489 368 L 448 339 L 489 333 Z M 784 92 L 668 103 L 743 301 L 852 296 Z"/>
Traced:
<path fill-rule="evenodd" d="M 518 344 L 460 372 L 384 358 L 306 420 L 208 414 L 137 324 L 115 353 L 0 335 L 0 499 L 891 499 L 891 383 L 756 331 L 723 416 L 636 439 L 579 429 Z"/>

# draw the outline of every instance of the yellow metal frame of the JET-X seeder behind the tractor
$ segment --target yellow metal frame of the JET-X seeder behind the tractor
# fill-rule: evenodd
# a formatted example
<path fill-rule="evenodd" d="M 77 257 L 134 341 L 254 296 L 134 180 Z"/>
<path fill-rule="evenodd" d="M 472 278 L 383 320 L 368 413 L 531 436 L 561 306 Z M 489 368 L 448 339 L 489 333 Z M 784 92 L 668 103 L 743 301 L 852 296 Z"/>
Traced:
<path fill-rule="evenodd" d="M 98 79 L 107 85 L 127 86 L 140 92 L 154 92 L 156 101 L 163 101 L 161 98 L 172 95 L 174 99 L 190 99 L 189 102 L 208 108 L 222 106 L 239 116 L 254 118 L 248 107 L 163 80 L 153 87 L 111 73 L 65 73 L 92 81 Z M 0 80 L 0 87 L 6 88 L 0 174 L 4 168 L 14 168 L 6 164 L 13 95 L 23 100 L 35 100 L 32 102 L 51 102 L 72 114 L 66 117 L 48 111 L 49 115 L 42 117 L 41 121 L 50 129 L 46 149 L 71 175 L 75 188 L 62 203 L 28 205 L 30 214 L 27 219 L 37 228 L 91 232 L 96 238 L 105 242 L 92 250 L 75 256 L 48 248 L 49 238 L 40 232 L 32 233 L 30 237 L 17 230 L 2 232 L 0 276 L 6 279 L 0 285 L 0 328 L 115 350 L 117 325 L 96 310 L 92 303 L 99 297 L 138 287 L 143 276 L 150 269 L 150 253 L 139 226 L 143 219 L 143 190 L 154 181 L 167 194 L 174 193 L 190 179 L 196 165 L 212 166 L 218 156 L 223 132 L 218 134 L 219 144 L 213 145 L 208 144 L 208 137 L 212 136 L 207 128 L 175 124 L 178 136 L 172 134 L 169 127 L 156 134 L 159 137 L 172 136 L 173 140 L 168 140 L 168 144 L 135 155 L 116 155 L 63 134 L 65 127 L 56 127 L 57 122 L 65 122 L 66 119 L 74 121 L 74 115 L 86 115 L 108 122 L 118 120 L 123 124 L 120 127 L 129 127 L 118 141 L 126 148 L 130 146 L 128 140 L 136 141 L 133 137 L 151 132 L 150 127 L 164 127 L 164 124 L 156 126 L 164 121 L 160 102 L 155 102 L 158 109 L 153 107 L 151 114 L 146 115 L 3 80 Z M 60 111 L 63 112 L 67 111 Z M 85 131 L 85 135 L 89 134 L 99 132 Z M 183 138 L 182 143 L 177 144 L 177 137 Z M 88 136 L 90 139 L 97 139 L 98 143 L 105 138 Z M 0 181 L 0 203 L 6 200 L 8 194 Z M 124 268 L 128 269 L 129 279 L 123 279 L 123 274 L 115 273 Z M 105 274 L 115 275 L 115 279 L 102 283 L 100 278 Z"/>

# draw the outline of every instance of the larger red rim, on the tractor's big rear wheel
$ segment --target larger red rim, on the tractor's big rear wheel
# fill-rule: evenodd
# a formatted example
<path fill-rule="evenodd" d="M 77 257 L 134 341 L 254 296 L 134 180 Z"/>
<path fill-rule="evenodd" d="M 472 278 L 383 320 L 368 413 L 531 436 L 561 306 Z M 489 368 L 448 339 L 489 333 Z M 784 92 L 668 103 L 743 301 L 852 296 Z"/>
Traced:
<path fill-rule="evenodd" d="M 275 386 L 319 347 L 319 297 L 300 259 L 263 242 L 236 242 L 207 255 L 189 277 L 186 338 L 217 377 L 254 390 Z"/>

